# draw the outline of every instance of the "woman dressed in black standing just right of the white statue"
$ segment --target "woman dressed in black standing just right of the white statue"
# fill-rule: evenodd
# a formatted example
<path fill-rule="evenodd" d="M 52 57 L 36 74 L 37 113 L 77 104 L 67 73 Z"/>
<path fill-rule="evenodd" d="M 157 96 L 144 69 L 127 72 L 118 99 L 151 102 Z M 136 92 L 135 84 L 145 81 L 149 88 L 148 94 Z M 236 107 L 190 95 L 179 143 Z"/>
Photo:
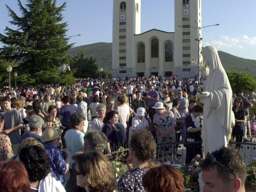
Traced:
<path fill-rule="evenodd" d="M 236 97 L 234 100 L 235 107 L 233 112 L 235 114 L 235 127 L 232 129 L 233 140 L 236 137 L 236 142 L 242 142 L 244 136 L 243 123 L 245 122 L 245 110 L 243 109 L 243 100 L 240 97 Z M 236 144 L 236 148 L 240 149 L 240 144 Z"/>

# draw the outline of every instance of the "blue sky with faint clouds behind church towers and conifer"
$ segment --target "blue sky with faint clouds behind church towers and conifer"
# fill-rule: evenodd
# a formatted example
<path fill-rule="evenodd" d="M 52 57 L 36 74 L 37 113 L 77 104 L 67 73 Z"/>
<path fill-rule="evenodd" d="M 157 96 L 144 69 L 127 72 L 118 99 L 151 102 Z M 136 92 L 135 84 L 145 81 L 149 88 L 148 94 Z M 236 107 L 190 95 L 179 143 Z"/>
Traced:
<path fill-rule="evenodd" d="M 191 0 L 193 1 L 193 0 Z M 21 0 L 25 3 L 25 0 Z M 64 0 L 58 0 L 62 4 Z M 66 0 L 63 12 L 68 22 L 70 43 L 75 46 L 97 42 L 112 42 L 113 0 Z M 0 0 L 0 33 L 9 24 L 5 4 L 19 13 L 16 0 Z M 255 4 L 250 0 L 202 0 L 203 46 L 256 60 Z M 13 28 L 13 27 L 12 27 Z M 174 0 L 141 0 L 141 33 L 152 28 L 174 31 Z M 2 46 L 0 44 L 0 46 Z"/>

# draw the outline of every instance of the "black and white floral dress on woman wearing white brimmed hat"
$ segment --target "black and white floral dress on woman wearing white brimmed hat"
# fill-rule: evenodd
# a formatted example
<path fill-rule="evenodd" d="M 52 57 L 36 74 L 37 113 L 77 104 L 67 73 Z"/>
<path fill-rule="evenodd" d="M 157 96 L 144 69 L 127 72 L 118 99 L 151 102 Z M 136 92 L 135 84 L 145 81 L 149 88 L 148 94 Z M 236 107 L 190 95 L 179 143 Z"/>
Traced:
<path fill-rule="evenodd" d="M 157 113 L 154 115 L 153 123 L 157 124 L 158 127 L 162 131 L 166 131 L 169 126 L 176 125 L 175 116 L 173 115 L 172 111 L 167 110 L 167 116 L 162 118 Z M 169 137 L 162 138 L 162 136 L 157 133 L 157 143 L 163 144 L 168 143 L 167 145 L 157 145 L 156 146 L 156 161 L 160 162 L 174 162 L 175 153 L 174 148 L 176 147 L 174 144 L 169 144 L 175 142 L 175 130 L 170 133 Z"/>

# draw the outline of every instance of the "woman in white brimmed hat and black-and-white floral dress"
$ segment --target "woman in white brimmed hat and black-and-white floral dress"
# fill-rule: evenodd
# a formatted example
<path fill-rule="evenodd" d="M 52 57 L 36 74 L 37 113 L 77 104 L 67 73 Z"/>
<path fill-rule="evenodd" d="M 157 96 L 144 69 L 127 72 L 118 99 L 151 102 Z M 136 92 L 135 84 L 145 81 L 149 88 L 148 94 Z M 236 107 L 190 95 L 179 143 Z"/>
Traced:
<path fill-rule="evenodd" d="M 175 142 L 175 126 L 176 120 L 172 111 L 167 110 L 162 102 L 156 102 L 156 109 L 153 123 L 157 124 L 156 133 L 158 143 L 172 143 Z M 161 163 L 170 161 L 173 162 L 175 159 L 174 145 L 158 145 L 156 147 L 156 161 Z"/>

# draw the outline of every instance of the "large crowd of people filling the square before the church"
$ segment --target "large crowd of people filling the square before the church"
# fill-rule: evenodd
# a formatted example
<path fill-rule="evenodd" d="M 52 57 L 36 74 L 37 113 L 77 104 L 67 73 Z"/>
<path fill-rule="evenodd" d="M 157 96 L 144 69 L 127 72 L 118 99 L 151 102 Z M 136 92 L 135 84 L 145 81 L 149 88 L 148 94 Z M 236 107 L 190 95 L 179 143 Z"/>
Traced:
<path fill-rule="evenodd" d="M 204 81 L 177 76 L 102 82 L 87 78 L 68 87 L 3 90 L 1 191 L 184 192 L 182 174 L 165 163 L 181 156 L 178 142 L 185 142 L 186 164 L 203 155 L 203 103 L 197 93 Z M 234 95 L 232 136 L 237 142 L 247 140 L 250 106 L 242 91 Z M 104 155 L 119 147 L 129 147 L 128 172 L 116 182 Z M 202 171 L 205 191 L 244 191 L 246 170 L 236 149 L 222 147 L 207 154 Z"/>

